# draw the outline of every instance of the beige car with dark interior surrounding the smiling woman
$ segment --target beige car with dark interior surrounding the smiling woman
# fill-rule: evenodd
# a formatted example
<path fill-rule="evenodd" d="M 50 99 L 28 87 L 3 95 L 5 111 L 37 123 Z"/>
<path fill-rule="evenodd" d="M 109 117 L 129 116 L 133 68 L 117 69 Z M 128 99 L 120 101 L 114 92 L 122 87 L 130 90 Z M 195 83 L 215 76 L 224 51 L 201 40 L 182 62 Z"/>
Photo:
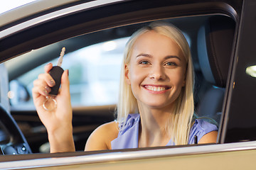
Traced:
<path fill-rule="evenodd" d="M 256 157 L 254 0 L 34 1 L 0 15 L 1 169 L 253 169 Z M 191 47 L 198 116 L 218 141 L 84 152 L 115 119 L 125 42 L 152 21 L 174 24 Z M 50 154 L 31 99 L 33 80 L 66 48 L 77 152 Z M 96 90 L 95 90 L 96 89 Z"/>

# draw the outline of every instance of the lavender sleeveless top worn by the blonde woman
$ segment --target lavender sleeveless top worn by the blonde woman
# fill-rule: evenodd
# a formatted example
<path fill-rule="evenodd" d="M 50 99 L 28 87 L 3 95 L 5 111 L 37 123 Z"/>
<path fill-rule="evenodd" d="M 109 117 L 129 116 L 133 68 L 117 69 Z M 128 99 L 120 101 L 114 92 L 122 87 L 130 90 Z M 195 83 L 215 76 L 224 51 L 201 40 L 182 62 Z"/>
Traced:
<path fill-rule="evenodd" d="M 119 131 L 116 139 L 112 140 L 112 149 L 129 149 L 139 147 L 139 113 L 129 114 L 127 122 L 122 130 Z M 196 119 L 195 123 L 191 127 L 191 131 L 188 136 L 188 144 L 194 144 L 194 136 L 198 137 L 198 141 L 201 140 L 203 135 L 208 132 L 217 131 L 216 125 L 208 123 L 206 120 Z M 166 146 L 174 145 L 172 140 L 169 140 Z"/>

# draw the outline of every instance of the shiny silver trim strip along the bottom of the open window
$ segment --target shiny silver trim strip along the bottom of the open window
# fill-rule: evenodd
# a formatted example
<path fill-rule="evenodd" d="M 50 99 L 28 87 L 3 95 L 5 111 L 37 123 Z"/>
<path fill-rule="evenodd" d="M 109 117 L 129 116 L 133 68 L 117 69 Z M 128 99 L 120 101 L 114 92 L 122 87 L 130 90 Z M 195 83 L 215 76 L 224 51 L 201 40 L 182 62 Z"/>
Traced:
<path fill-rule="evenodd" d="M 106 162 L 119 162 L 138 159 L 152 159 L 161 157 L 177 157 L 200 154 L 212 154 L 222 152 L 246 151 L 256 149 L 256 142 L 239 142 L 220 145 L 196 145 L 188 147 L 156 147 L 142 149 L 112 150 L 103 152 L 79 152 L 74 157 L 74 152 L 58 154 L 31 154 L 21 155 L 22 157 L 3 157 L 0 166 L 3 169 L 28 169 L 42 168 L 49 166 L 68 166 L 77 164 L 94 164 Z M 27 159 L 26 159 L 27 157 Z M 4 161 L 8 162 L 4 162 Z M 18 159 L 20 159 L 18 161 Z"/>

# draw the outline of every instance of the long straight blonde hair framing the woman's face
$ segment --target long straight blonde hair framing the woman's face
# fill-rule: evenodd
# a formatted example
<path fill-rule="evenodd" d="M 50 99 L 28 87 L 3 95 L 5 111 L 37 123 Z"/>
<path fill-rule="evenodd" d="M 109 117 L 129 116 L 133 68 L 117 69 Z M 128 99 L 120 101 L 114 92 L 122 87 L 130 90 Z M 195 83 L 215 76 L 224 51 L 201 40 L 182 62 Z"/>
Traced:
<path fill-rule="evenodd" d="M 188 144 L 188 135 L 191 129 L 194 112 L 193 64 L 186 38 L 183 33 L 181 33 L 181 30 L 178 30 L 178 28 L 169 23 L 153 22 L 149 26 L 137 30 L 137 32 L 135 32 L 127 42 L 124 50 L 124 60 L 122 62 L 120 77 L 119 102 L 117 103 L 117 122 L 119 125 L 124 125 L 129 114 L 139 113 L 137 99 L 132 94 L 131 86 L 125 81 L 124 66 L 125 64 L 129 64 L 134 42 L 137 38 L 152 30 L 174 40 L 178 46 L 181 47 L 186 60 L 186 85 L 182 88 L 181 94 L 175 101 L 176 107 L 174 108 L 174 114 L 171 114 L 169 120 L 166 122 L 166 132 L 170 135 L 174 144 L 186 145 Z M 122 127 L 119 128 L 122 130 Z"/>

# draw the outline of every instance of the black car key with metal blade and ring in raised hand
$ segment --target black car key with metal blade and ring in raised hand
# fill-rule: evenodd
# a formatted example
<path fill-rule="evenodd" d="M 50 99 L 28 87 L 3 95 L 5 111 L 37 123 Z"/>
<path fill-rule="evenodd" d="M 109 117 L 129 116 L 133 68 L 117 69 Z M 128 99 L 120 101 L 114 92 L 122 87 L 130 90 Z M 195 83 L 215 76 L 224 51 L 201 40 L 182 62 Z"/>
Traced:
<path fill-rule="evenodd" d="M 53 111 L 53 109 L 57 107 L 57 101 L 55 101 L 55 96 L 58 95 L 58 90 L 60 89 L 61 76 L 64 72 L 63 68 L 61 68 L 64 54 L 65 54 L 65 47 L 63 47 L 60 52 L 60 57 L 58 59 L 57 66 L 54 66 L 49 71 L 50 76 L 53 77 L 55 81 L 55 86 L 51 88 L 49 96 L 46 96 L 46 101 L 43 102 L 43 108 L 46 111 Z"/>

